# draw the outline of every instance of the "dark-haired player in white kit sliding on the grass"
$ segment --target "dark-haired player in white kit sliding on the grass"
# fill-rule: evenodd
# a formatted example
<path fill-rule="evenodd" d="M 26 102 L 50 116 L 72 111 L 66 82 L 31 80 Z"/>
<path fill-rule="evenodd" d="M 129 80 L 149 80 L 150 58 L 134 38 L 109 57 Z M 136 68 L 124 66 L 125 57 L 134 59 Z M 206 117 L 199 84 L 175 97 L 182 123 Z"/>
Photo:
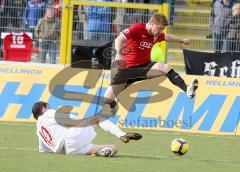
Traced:
<path fill-rule="evenodd" d="M 124 143 L 142 138 L 138 133 L 123 132 L 117 125 L 109 120 L 102 120 L 103 118 L 101 117 L 93 119 L 96 121 L 95 125 L 69 127 L 67 126 L 68 122 L 66 120 L 66 115 L 69 117 L 69 114 L 65 113 L 64 116 L 64 113 L 59 113 L 56 110 L 51 109 L 50 105 L 43 101 L 34 104 L 32 113 L 37 120 L 39 152 L 74 155 L 87 154 L 104 157 L 115 155 L 118 151 L 116 145 L 96 145 L 92 143 L 97 135 L 95 132 L 97 126 L 117 136 Z M 59 123 L 61 120 L 63 123 Z"/>

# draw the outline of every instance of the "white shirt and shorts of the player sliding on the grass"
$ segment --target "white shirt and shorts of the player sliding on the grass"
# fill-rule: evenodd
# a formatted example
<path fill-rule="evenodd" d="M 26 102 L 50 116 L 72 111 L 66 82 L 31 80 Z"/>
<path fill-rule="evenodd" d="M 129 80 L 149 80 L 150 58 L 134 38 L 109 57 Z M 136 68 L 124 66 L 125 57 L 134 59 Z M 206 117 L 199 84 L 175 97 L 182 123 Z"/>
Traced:
<path fill-rule="evenodd" d="M 76 119 L 72 114 L 56 114 L 56 110 L 53 109 L 38 117 L 39 152 L 86 154 L 89 151 L 92 147 L 91 142 L 96 137 L 93 126 L 68 128 L 59 124 L 66 123 L 65 120 L 69 118 Z"/>

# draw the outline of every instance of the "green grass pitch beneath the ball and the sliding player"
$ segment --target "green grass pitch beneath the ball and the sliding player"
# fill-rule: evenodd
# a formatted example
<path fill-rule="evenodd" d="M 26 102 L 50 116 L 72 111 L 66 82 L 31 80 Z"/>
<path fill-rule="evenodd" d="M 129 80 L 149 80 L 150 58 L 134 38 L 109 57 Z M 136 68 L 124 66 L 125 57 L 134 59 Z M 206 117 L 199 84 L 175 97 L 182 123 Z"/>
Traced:
<path fill-rule="evenodd" d="M 126 130 L 133 132 L 135 130 Z M 123 144 L 102 130 L 94 143 L 114 143 L 119 152 L 113 158 L 39 153 L 33 123 L 0 122 L 1 172 L 234 172 L 240 169 L 240 138 L 136 130 L 142 140 Z M 190 149 L 184 156 L 170 152 L 175 138 L 184 138 Z"/>

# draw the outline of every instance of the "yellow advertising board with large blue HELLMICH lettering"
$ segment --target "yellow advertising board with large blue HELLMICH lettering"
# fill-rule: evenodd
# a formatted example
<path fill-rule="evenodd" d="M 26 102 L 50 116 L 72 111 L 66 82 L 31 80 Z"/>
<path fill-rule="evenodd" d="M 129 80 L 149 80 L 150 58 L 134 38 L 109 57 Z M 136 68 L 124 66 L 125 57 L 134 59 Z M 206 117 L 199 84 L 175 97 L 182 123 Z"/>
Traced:
<path fill-rule="evenodd" d="M 2 63 L 0 120 L 34 122 L 31 109 L 40 100 L 47 101 L 53 109 L 72 106 L 72 113 L 79 118 L 101 113 L 111 72 Z M 120 109 L 111 120 L 128 128 L 239 135 L 239 79 L 183 78 L 187 83 L 193 78 L 199 80 L 194 99 L 189 99 L 165 77 L 137 82 L 119 95 Z"/>

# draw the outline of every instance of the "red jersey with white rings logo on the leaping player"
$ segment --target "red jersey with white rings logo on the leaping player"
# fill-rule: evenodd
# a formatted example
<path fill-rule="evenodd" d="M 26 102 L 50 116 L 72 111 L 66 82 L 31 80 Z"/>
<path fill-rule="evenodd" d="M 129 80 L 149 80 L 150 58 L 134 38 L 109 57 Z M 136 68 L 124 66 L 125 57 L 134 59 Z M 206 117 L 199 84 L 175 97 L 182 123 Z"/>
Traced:
<path fill-rule="evenodd" d="M 146 23 L 136 23 L 122 32 L 127 41 L 123 50 L 123 58 L 127 67 L 142 65 L 151 61 L 151 49 L 156 42 L 165 40 L 165 34 L 161 33 L 156 41 L 146 29 Z"/>

